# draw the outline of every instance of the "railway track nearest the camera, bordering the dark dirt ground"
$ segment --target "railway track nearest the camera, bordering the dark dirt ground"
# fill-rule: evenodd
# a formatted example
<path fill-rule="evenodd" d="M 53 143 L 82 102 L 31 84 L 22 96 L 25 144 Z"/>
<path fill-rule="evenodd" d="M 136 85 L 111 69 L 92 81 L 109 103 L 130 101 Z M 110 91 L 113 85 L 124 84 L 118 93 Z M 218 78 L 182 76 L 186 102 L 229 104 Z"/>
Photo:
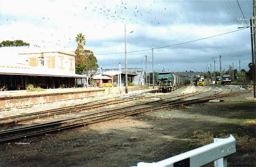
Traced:
<path fill-rule="evenodd" d="M 149 104 L 148 102 L 147 106 L 143 106 L 143 107 L 140 106 L 139 104 L 136 104 L 128 107 L 121 107 L 118 109 L 110 109 L 110 110 L 104 110 L 102 112 L 91 113 L 81 117 L 64 119 L 61 121 L 54 121 L 54 122 L 43 123 L 43 124 L 38 124 L 34 126 L 10 129 L 10 130 L 0 132 L 0 136 L 1 136 L 0 143 L 18 141 L 24 138 L 34 137 L 34 136 L 48 134 L 48 133 L 60 132 L 68 129 L 86 126 L 93 123 L 110 121 L 113 119 L 124 118 L 124 117 L 132 116 L 135 114 L 152 112 L 155 110 L 169 109 L 173 107 L 177 108 L 177 107 L 182 107 L 184 105 L 204 103 L 210 99 L 215 99 L 215 98 L 220 98 L 220 97 L 225 97 L 230 95 L 237 95 L 237 94 L 247 93 L 250 91 L 251 90 L 246 90 L 243 92 L 232 92 L 232 90 L 230 90 L 230 92 L 228 93 L 220 94 L 219 92 L 218 94 L 208 95 L 205 97 L 200 97 L 192 100 L 181 100 L 184 97 L 180 97 L 176 100 L 157 103 L 157 104 L 151 104 L 151 105 L 148 105 Z M 133 107 L 133 108 L 129 108 L 129 107 Z"/>

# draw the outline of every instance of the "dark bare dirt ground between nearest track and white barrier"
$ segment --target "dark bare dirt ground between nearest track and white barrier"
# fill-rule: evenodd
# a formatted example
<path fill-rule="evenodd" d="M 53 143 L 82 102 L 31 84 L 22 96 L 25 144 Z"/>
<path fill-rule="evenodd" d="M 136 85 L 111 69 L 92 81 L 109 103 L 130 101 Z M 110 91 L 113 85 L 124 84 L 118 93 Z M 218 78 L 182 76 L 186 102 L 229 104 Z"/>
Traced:
<path fill-rule="evenodd" d="M 228 166 L 256 166 L 256 100 L 222 98 L 0 145 L 0 166 L 135 166 L 236 138 Z M 28 144 L 26 144 L 28 143 Z M 213 166 L 213 163 L 207 166 Z"/>

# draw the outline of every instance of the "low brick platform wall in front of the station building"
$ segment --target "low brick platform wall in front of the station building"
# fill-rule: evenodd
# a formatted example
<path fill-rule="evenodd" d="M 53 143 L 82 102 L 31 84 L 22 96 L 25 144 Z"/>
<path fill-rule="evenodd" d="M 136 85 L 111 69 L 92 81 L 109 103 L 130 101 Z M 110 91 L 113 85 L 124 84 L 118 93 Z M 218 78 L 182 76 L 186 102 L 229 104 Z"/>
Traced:
<path fill-rule="evenodd" d="M 145 85 L 133 86 L 128 87 L 128 91 L 145 88 L 147 88 Z M 125 87 L 122 88 L 121 92 L 125 92 Z M 106 94 L 118 94 L 118 87 L 90 89 L 47 89 L 42 92 L 28 92 L 24 90 L 4 91 L 0 92 L 0 110 Z"/>

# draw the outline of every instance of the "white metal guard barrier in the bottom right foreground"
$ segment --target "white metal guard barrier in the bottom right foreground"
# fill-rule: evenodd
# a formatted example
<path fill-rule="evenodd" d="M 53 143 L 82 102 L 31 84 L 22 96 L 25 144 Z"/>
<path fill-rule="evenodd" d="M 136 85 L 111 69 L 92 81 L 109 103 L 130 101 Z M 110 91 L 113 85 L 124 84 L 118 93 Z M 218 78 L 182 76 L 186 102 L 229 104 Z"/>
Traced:
<path fill-rule="evenodd" d="M 227 156 L 235 152 L 236 139 L 230 135 L 225 139 L 214 138 L 214 143 L 159 162 L 139 162 L 137 167 L 198 167 L 213 161 L 215 167 L 227 167 Z"/>

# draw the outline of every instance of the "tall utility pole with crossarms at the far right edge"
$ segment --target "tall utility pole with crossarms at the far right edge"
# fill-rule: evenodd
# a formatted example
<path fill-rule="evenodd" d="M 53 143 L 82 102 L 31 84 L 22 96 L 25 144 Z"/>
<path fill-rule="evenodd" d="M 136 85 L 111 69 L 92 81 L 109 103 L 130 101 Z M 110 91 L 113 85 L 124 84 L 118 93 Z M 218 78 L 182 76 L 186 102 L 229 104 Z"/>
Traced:
<path fill-rule="evenodd" d="M 253 0 L 253 3 L 254 3 L 254 0 Z M 255 3 L 253 4 L 253 8 L 254 8 L 254 5 L 255 5 Z M 254 11 L 254 9 L 253 9 L 253 11 Z M 256 16 L 252 16 L 252 18 L 250 18 L 250 19 L 238 19 L 237 18 L 237 21 L 246 21 L 246 20 L 250 20 L 250 26 L 239 26 L 238 28 L 249 28 L 250 27 L 250 29 L 251 29 L 251 50 L 252 50 L 252 82 L 253 82 L 253 98 L 256 98 L 256 96 L 255 96 L 255 62 L 254 62 L 254 57 L 255 57 L 255 55 L 253 55 L 253 53 L 255 52 L 253 52 L 253 37 L 252 37 L 252 27 L 254 28 L 255 27 L 255 25 L 253 24 L 252 25 L 252 20 L 254 21 L 256 19 Z M 242 22 L 243 23 L 243 22 Z"/>

